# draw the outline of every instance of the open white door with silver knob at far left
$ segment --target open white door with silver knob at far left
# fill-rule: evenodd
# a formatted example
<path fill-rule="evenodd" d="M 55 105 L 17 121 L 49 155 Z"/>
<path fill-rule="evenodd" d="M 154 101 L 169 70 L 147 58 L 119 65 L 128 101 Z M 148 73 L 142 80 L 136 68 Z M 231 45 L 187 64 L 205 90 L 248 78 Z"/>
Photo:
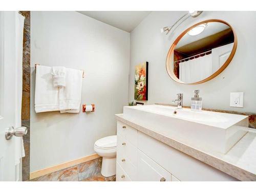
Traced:
<path fill-rule="evenodd" d="M 15 136 L 6 139 L 8 127 L 17 128 L 21 121 L 22 39 L 18 38 L 22 35 L 23 26 L 17 25 L 22 21 L 17 14 L 14 11 L 0 11 L 0 181 L 17 181 L 20 178 L 17 168 L 20 148 L 17 148 L 17 143 L 21 139 Z M 26 129 L 16 129 L 12 130 L 11 135 L 15 133 L 21 136 L 26 132 Z"/>

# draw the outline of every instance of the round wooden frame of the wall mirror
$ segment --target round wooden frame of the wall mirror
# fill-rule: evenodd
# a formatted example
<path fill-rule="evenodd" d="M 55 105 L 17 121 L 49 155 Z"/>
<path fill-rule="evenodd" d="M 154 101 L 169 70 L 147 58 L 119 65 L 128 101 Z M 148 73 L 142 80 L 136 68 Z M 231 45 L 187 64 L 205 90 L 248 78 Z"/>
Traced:
<path fill-rule="evenodd" d="M 170 62 L 173 62 L 173 53 L 174 53 L 174 50 L 175 50 L 175 47 L 177 46 L 178 42 L 180 41 L 180 39 L 188 32 L 190 31 L 191 29 L 193 29 L 194 27 L 198 26 L 198 25 L 201 25 L 201 24 L 205 24 L 205 23 L 211 23 L 211 22 L 219 22 L 219 23 L 223 23 L 223 24 L 226 24 L 228 25 L 233 34 L 234 34 L 234 45 L 233 45 L 233 48 L 232 48 L 232 51 L 229 55 L 229 57 L 227 58 L 227 60 L 225 61 L 225 63 L 221 66 L 221 68 L 219 70 L 217 70 L 215 73 L 213 73 L 212 75 L 210 75 L 209 77 L 201 80 L 201 81 L 198 81 L 198 82 L 193 82 L 193 83 L 186 83 L 186 82 L 183 82 L 181 81 L 178 77 L 176 77 L 176 75 L 174 74 L 174 70 L 171 68 L 170 66 Z M 230 63 L 230 61 L 232 60 L 234 54 L 236 53 L 236 50 L 237 50 L 237 45 L 238 45 L 238 41 L 237 41 L 237 35 L 236 33 L 234 32 L 234 29 L 227 23 L 225 22 L 224 20 L 220 20 L 220 19 L 208 19 L 208 20 L 204 20 L 203 22 L 199 22 L 189 28 L 187 28 L 185 31 L 183 31 L 177 38 L 176 40 L 173 42 L 173 45 L 170 47 L 168 53 L 167 53 L 167 57 L 166 57 L 166 70 L 167 70 L 167 73 L 168 75 L 170 76 L 170 78 L 172 78 L 174 81 L 178 82 L 178 83 L 181 83 L 181 84 L 200 84 L 200 83 L 203 83 L 203 82 L 206 82 L 208 80 L 211 80 L 212 78 L 216 77 L 217 75 L 219 75 Z M 173 65 L 173 64 L 172 64 Z"/>

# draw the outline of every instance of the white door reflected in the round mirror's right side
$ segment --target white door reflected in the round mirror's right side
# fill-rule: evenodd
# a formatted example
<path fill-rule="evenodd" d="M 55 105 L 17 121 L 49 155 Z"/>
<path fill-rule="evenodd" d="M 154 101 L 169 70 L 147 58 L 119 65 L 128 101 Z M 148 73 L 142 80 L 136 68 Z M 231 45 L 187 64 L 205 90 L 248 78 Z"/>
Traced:
<path fill-rule="evenodd" d="M 232 42 L 231 44 L 227 44 L 211 50 L 212 73 L 215 73 L 225 63 L 232 51 L 233 45 L 234 43 Z"/>

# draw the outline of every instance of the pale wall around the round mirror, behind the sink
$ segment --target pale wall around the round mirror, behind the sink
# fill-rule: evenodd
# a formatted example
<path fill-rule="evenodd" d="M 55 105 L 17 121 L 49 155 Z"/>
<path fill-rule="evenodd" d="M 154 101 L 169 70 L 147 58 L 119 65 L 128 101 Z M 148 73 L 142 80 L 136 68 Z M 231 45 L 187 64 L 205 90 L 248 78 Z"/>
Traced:
<path fill-rule="evenodd" d="M 256 112 L 256 12 L 203 12 L 185 20 L 174 33 L 165 35 L 160 28 L 170 26 L 186 12 L 152 12 L 131 32 L 129 101 L 134 100 L 134 69 L 137 63 L 149 62 L 147 103 L 171 103 L 177 93 L 184 94 L 184 105 L 190 106 L 193 91 L 200 90 L 203 107 Z M 172 80 L 165 69 L 170 45 L 186 28 L 206 19 L 228 22 L 238 36 L 237 52 L 229 66 L 216 78 L 198 85 L 184 85 Z M 229 107 L 229 93 L 244 92 L 244 108 Z"/>

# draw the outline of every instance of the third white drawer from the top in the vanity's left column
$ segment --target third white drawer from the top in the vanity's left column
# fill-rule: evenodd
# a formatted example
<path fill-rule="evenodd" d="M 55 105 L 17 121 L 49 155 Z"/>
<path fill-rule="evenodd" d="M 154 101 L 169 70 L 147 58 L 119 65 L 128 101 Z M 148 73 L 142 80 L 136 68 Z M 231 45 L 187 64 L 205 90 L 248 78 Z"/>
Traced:
<path fill-rule="evenodd" d="M 131 160 L 125 155 L 117 154 L 116 161 L 129 176 L 129 178 L 136 181 L 137 167 L 131 162 Z"/>

